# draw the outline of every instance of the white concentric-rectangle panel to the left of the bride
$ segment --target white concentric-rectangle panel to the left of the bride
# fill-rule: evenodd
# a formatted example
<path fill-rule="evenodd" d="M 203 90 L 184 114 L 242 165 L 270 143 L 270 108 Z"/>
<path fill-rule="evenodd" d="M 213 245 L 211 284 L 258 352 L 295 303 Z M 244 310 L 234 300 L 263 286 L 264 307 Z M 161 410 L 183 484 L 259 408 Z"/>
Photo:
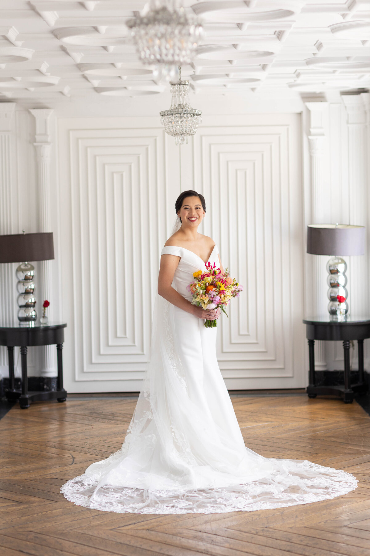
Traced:
<path fill-rule="evenodd" d="M 149 357 L 165 230 L 164 132 L 116 124 L 59 122 L 60 168 L 69 168 L 60 191 L 70 390 L 74 381 L 82 390 L 138 389 Z"/>

